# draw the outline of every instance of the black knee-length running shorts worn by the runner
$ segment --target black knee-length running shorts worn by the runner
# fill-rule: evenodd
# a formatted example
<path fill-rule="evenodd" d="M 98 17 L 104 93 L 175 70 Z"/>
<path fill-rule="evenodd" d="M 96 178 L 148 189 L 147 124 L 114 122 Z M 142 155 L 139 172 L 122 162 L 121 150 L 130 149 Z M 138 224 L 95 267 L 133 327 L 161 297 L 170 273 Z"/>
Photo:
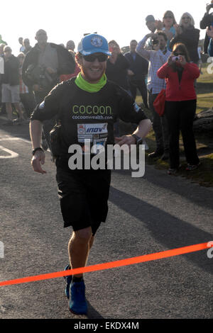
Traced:
<path fill-rule="evenodd" d="M 64 227 L 92 227 L 94 235 L 107 218 L 111 170 L 70 170 L 61 157 L 55 164 Z"/>

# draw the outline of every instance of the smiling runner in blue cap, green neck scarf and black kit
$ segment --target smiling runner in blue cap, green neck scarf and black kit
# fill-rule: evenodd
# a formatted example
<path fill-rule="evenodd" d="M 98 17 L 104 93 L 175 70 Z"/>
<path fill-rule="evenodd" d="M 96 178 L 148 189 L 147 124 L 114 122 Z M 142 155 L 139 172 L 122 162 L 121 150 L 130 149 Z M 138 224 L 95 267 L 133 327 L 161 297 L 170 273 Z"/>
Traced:
<path fill-rule="evenodd" d="M 45 174 L 41 164 L 45 154 L 40 148 L 42 121 L 60 116 L 60 148 L 55 152 L 58 193 L 64 227 L 72 226 L 68 245 L 70 264 L 65 270 L 86 266 L 97 229 L 107 218 L 111 170 L 84 169 L 76 165 L 70 169 L 70 146 L 82 149 L 82 159 L 87 147 L 99 145 L 107 152 L 108 145 L 135 145 L 142 141 L 151 129 L 151 121 L 136 106 L 135 101 L 120 86 L 106 77 L 107 58 L 111 55 L 106 38 L 89 34 L 78 45 L 76 61 L 81 69 L 77 77 L 63 81 L 50 91 L 31 116 L 31 140 L 33 144 L 33 170 Z M 133 120 L 138 128 L 133 135 L 114 138 L 114 122 L 117 118 Z M 98 152 L 92 154 L 96 157 Z M 87 313 L 85 285 L 82 274 L 67 276 L 65 294 L 69 309 L 77 315 Z"/>

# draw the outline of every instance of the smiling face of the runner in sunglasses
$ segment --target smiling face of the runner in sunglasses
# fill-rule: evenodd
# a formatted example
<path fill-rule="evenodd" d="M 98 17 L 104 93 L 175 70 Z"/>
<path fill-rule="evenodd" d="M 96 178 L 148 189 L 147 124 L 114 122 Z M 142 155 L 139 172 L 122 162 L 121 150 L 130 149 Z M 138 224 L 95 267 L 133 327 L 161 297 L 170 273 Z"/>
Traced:
<path fill-rule="evenodd" d="M 81 57 L 78 62 L 81 66 L 82 76 L 89 83 L 95 84 L 97 83 L 103 76 L 106 67 L 107 60 L 101 62 L 98 60 L 97 56 L 103 55 L 103 53 L 94 53 L 92 56 L 94 57 L 94 61 L 89 62 Z"/>

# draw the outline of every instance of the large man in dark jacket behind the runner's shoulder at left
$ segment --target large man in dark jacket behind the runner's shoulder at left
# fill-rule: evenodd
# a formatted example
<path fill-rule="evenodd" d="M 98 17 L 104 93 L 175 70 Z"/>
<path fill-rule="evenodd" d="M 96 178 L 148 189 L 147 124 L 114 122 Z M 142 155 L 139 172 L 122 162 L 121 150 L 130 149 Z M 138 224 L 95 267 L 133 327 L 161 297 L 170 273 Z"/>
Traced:
<path fill-rule="evenodd" d="M 48 43 L 48 35 L 40 29 L 35 34 L 37 44 L 26 54 L 22 67 L 23 83 L 33 90 L 36 104 L 43 101 L 53 86 L 59 83 L 61 74 L 71 74 L 75 71 L 75 60 L 69 51 L 54 43 Z M 49 144 L 50 130 L 55 120 L 47 120 L 43 130 Z M 47 149 L 43 140 L 43 147 Z"/>

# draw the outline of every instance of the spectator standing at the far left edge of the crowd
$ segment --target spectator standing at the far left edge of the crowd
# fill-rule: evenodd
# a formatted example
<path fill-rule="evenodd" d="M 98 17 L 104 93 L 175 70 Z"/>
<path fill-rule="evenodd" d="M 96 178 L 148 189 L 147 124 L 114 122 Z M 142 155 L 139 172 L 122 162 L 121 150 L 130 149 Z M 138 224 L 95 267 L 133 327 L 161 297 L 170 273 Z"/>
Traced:
<path fill-rule="evenodd" d="M 13 111 L 12 104 L 16 108 L 16 112 L 19 115 L 20 123 L 25 123 L 23 118 L 23 112 L 21 110 L 19 101 L 19 74 L 18 74 L 19 62 L 18 59 L 12 55 L 11 47 L 4 47 L 4 74 L 1 74 L 2 82 L 2 103 L 6 103 L 6 113 L 8 120 L 4 125 L 13 125 Z"/>

